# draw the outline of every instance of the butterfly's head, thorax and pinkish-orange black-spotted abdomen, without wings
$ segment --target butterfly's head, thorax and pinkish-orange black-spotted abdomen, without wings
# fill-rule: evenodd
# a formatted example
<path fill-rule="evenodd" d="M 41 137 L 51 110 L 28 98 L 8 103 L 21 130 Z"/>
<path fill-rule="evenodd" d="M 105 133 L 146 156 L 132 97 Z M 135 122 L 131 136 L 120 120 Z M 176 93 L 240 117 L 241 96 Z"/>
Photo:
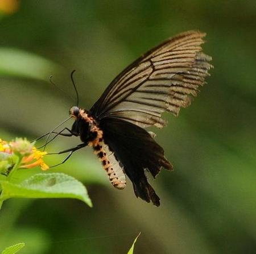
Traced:
<path fill-rule="evenodd" d="M 71 131 L 80 136 L 83 143 L 87 143 L 93 148 L 106 170 L 111 184 L 117 189 L 124 189 L 126 178 L 123 169 L 119 166 L 108 145 L 105 144 L 103 131 L 98 126 L 96 119 L 90 116 L 88 111 L 78 107 L 72 107 L 70 114 L 75 119 Z"/>

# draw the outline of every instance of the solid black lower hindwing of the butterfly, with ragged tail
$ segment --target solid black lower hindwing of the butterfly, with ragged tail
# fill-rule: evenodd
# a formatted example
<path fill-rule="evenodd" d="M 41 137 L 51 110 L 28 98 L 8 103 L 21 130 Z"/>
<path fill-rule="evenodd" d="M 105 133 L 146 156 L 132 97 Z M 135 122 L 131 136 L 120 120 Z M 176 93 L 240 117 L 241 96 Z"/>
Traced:
<path fill-rule="evenodd" d="M 172 169 L 171 163 L 164 157 L 163 148 L 146 130 L 122 119 L 103 118 L 100 128 L 105 143 L 121 161 L 125 173 L 133 182 L 135 195 L 159 206 L 159 197 L 148 183 L 145 170 L 156 177 L 162 166 Z"/>

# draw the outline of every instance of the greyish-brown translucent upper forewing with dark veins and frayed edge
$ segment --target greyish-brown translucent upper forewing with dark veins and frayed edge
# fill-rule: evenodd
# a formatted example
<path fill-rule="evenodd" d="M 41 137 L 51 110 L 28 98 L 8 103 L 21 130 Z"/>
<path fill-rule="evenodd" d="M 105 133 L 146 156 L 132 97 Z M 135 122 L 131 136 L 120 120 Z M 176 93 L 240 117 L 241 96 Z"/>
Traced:
<path fill-rule="evenodd" d="M 205 34 L 189 31 L 171 38 L 134 61 L 106 88 L 90 110 L 97 119 L 119 118 L 140 127 L 163 127 L 164 111 L 187 107 L 212 65 L 201 52 Z"/>

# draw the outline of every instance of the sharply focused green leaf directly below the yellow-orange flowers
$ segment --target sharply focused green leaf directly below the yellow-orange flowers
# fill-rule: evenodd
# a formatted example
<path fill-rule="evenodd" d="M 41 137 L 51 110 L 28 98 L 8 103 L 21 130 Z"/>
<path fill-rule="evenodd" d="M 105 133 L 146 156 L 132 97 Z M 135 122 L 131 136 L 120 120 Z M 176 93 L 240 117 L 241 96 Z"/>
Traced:
<path fill-rule="evenodd" d="M 76 198 L 92 207 L 92 201 L 81 182 L 63 173 L 40 173 L 13 184 L 0 181 L 3 200 L 8 198 Z"/>

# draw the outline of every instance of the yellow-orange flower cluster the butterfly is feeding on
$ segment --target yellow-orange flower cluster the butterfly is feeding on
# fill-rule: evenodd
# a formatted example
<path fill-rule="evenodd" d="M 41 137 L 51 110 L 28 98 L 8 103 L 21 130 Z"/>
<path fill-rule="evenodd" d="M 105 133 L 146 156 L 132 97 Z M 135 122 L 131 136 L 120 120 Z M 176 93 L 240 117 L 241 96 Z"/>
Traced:
<path fill-rule="evenodd" d="M 13 155 L 16 155 L 21 159 L 19 168 L 40 166 L 42 170 L 47 170 L 49 166 L 43 161 L 43 156 L 46 154 L 47 152 L 41 152 L 36 149 L 34 144 L 31 144 L 27 139 L 17 138 L 9 143 L 0 139 L 0 168 L 1 163 L 2 167 L 7 165 L 7 160 L 9 167 L 11 167 L 11 161 L 14 161 Z"/>

